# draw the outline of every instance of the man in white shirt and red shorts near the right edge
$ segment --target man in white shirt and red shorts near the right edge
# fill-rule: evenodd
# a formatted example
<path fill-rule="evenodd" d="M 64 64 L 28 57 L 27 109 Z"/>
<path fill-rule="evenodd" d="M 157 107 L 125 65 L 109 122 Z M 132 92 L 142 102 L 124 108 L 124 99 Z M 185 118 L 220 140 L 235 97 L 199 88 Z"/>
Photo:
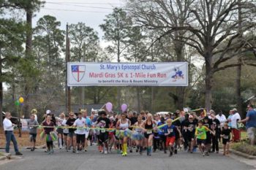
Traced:
<path fill-rule="evenodd" d="M 233 142 L 239 142 L 240 141 L 240 130 L 237 127 L 237 123 L 239 120 L 241 120 L 241 117 L 239 113 L 237 112 L 237 109 L 232 109 L 233 116 L 231 117 L 231 128 L 233 133 Z"/>

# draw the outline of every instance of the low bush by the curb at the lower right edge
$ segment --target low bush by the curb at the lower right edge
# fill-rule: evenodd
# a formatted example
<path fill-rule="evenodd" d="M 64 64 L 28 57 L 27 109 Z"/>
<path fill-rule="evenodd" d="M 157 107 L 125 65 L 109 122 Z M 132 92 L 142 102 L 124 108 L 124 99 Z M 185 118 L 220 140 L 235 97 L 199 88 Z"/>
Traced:
<path fill-rule="evenodd" d="M 248 155 L 256 156 L 256 146 L 252 146 L 248 142 L 232 144 L 231 148 L 239 152 L 244 152 Z"/>

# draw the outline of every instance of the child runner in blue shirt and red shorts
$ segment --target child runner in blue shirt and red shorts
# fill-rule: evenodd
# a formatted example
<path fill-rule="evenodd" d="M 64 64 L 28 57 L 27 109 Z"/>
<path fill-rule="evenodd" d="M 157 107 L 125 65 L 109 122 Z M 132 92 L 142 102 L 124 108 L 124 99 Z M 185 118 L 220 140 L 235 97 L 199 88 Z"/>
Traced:
<path fill-rule="evenodd" d="M 171 119 L 167 119 L 166 120 L 167 125 L 165 125 L 164 131 L 165 131 L 165 136 L 166 137 L 166 146 L 168 147 L 169 151 L 170 151 L 170 155 L 173 155 L 173 150 L 174 150 L 174 142 L 175 142 L 175 138 L 176 138 L 176 131 L 178 132 L 178 134 L 181 136 L 181 131 L 178 130 L 178 128 L 176 128 L 175 125 L 172 125 L 172 120 Z"/>

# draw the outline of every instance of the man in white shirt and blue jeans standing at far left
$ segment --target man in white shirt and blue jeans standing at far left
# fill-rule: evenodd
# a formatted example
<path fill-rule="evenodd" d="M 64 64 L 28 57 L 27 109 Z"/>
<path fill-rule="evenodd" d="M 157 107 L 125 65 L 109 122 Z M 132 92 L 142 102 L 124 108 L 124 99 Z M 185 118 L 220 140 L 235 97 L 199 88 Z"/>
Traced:
<path fill-rule="evenodd" d="M 5 152 L 7 152 L 7 153 L 10 152 L 10 142 L 12 141 L 14 149 L 15 149 L 15 155 L 22 155 L 22 153 L 20 153 L 18 150 L 18 144 L 17 144 L 16 138 L 13 134 L 13 128 L 14 128 L 15 124 L 13 124 L 11 122 L 11 120 L 10 120 L 11 117 L 12 117 L 12 115 L 10 112 L 5 113 L 5 118 L 3 121 L 4 134 L 5 134 L 5 138 L 6 138 Z"/>

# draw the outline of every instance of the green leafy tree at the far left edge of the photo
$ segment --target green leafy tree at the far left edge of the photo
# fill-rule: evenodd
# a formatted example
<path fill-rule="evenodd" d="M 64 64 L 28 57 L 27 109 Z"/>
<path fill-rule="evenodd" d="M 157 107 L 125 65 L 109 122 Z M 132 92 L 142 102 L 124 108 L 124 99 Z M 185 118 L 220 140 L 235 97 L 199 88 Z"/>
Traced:
<path fill-rule="evenodd" d="M 3 111 L 3 82 L 12 82 L 15 77 L 12 69 L 20 59 L 23 51 L 25 26 L 15 19 L 0 19 L 0 115 Z M 14 101 L 12 101 L 14 104 Z M 2 116 L 0 116 L 0 126 L 2 126 Z"/>

